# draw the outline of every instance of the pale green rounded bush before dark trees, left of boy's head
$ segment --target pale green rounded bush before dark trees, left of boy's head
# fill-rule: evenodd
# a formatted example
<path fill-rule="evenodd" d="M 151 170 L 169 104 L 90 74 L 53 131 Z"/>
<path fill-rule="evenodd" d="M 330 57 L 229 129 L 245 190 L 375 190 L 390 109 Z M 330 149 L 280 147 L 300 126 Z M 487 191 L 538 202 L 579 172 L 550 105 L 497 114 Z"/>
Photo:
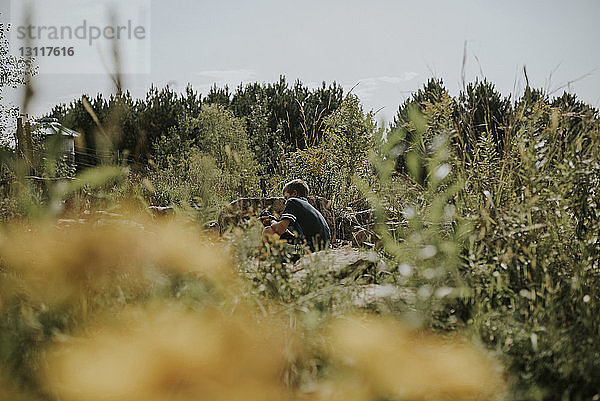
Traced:
<path fill-rule="evenodd" d="M 245 124 L 222 106 L 205 106 L 197 117 L 180 122 L 154 143 L 153 153 L 148 178 L 154 205 L 193 205 L 208 217 L 225 201 L 258 191 L 258 165 Z"/>

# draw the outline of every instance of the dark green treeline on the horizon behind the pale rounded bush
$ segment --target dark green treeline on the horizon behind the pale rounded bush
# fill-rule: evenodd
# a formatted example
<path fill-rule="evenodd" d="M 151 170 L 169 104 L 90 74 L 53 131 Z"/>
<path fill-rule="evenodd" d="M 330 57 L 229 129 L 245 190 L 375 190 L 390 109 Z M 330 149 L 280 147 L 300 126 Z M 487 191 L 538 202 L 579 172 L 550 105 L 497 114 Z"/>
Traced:
<path fill-rule="evenodd" d="M 280 170 L 285 152 L 323 139 L 324 121 L 341 104 L 342 93 L 336 83 L 309 89 L 300 81 L 290 86 L 283 76 L 273 84 L 240 86 L 234 93 L 215 86 L 204 97 L 191 86 L 181 94 L 168 86 L 153 86 L 144 99 L 132 99 L 127 91 L 108 99 L 83 95 L 69 105 L 55 106 L 50 116 L 82 133 L 77 149 L 80 168 L 107 159 L 141 167 L 154 157 L 153 143 L 197 118 L 203 104 L 218 105 L 246 121 L 261 170 L 273 174 Z"/>

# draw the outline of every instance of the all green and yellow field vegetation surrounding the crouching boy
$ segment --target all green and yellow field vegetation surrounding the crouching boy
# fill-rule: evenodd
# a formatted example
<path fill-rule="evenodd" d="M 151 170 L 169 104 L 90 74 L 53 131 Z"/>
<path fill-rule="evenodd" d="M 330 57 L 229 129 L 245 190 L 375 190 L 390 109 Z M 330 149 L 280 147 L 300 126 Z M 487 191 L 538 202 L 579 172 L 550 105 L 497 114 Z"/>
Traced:
<path fill-rule="evenodd" d="M 52 138 L 2 149 L 0 399 L 599 399 L 600 121 L 575 95 L 431 79 L 381 126 L 281 77 L 48 117 L 76 169 Z M 215 230 L 292 178 L 368 211 L 379 262 L 298 275 L 256 216 Z"/>

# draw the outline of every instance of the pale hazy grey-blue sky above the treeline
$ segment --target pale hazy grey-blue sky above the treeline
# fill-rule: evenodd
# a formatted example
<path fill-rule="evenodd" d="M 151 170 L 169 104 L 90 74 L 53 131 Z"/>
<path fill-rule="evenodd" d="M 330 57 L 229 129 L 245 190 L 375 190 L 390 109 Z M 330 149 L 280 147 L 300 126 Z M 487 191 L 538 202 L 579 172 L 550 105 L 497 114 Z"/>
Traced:
<path fill-rule="evenodd" d="M 0 0 L 3 21 L 22 1 Z M 69 14 L 76 7 L 65 2 L 101 13 L 91 11 L 97 1 L 44 1 L 55 6 L 38 11 L 62 24 L 79 21 L 77 12 Z M 214 83 L 235 88 L 285 75 L 309 86 L 336 81 L 347 90 L 354 87 L 364 108 L 378 110 L 376 118 L 386 122 L 431 77 L 441 78 L 452 95 L 461 89 L 463 74 L 466 82 L 485 77 L 514 99 L 525 86 L 525 67 L 531 86 L 554 95 L 568 90 L 600 106 L 598 0 L 121 3 L 132 8 L 120 17 L 143 25 L 147 34 L 142 56 L 132 57 L 131 73 L 123 76 L 124 87 L 138 97 L 151 85 L 183 90 L 189 83 L 207 93 Z M 149 12 L 136 11 L 140 5 Z M 13 29 L 18 25 L 10 22 Z M 81 52 L 92 47 L 80 46 Z M 29 113 L 44 114 L 84 93 L 114 92 L 108 74 L 95 68 L 100 63 L 91 56 L 85 60 L 72 63 L 76 72 L 65 57 L 55 60 L 61 66 L 40 66 Z M 20 92 L 11 92 L 3 101 L 19 104 L 19 98 Z"/>

